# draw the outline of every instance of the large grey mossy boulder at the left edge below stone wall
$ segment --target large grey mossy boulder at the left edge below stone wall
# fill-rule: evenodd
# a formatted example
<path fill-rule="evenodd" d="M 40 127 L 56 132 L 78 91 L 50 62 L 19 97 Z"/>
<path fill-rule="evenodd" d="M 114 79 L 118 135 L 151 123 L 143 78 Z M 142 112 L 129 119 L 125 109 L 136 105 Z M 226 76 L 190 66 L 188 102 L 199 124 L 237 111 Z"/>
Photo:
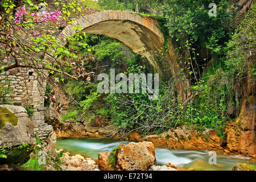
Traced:
<path fill-rule="evenodd" d="M 0 105 L 0 164 L 23 164 L 30 158 L 36 139 L 26 109 Z"/>

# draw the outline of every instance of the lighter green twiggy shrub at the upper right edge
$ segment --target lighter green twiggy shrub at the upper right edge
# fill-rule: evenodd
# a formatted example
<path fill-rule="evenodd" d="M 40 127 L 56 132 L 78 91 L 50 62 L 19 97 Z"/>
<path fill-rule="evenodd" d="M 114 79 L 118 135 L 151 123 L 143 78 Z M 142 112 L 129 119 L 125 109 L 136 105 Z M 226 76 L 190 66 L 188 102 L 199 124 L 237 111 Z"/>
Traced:
<path fill-rule="evenodd" d="M 255 49 L 256 46 L 256 5 L 245 15 L 232 36 L 227 46 L 228 56 L 226 57 L 225 71 L 233 77 L 244 77 L 245 75 L 255 78 Z M 251 61 L 250 61 L 251 60 Z"/>

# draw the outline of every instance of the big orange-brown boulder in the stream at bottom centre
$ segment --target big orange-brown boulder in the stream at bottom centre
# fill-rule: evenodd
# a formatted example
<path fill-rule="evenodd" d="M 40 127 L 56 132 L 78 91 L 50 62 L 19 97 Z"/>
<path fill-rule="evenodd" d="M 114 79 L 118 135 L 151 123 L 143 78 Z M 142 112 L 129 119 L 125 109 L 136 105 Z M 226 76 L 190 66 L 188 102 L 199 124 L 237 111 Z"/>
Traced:
<path fill-rule="evenodd" d="M 146 171 L 156 163 L 152 142 L 120 144 L 116 152 L 116 168 L 124 171 Z"/>

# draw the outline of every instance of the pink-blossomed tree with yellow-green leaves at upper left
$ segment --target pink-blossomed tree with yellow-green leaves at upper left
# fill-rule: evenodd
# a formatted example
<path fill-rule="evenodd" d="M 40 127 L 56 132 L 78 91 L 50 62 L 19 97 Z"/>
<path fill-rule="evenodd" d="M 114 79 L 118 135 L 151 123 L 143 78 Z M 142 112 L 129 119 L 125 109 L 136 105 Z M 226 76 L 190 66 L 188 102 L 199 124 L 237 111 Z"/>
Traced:
<path fill-rule="evenodd" d="M 90 80 L 93 72 L 85 70 L 76 50 L 69 50 L 56 41 L 57 36 L 64 36 L 61 34 L 63 28 L 72 23 L 73 18 L 82 15 L 85 6 L 81 2 L 85 1 L 2 0 L 0 72 L 32 68 L 49 83 L 59 82 L 59 78 L 61 81 L 64 78 Z M 79 33 L 67 39 L 77 37 L 81 37 Z M 94 59 L 92 55 L 88 57 Z M 51 77 L 48 76 L 49 73 Z"/>

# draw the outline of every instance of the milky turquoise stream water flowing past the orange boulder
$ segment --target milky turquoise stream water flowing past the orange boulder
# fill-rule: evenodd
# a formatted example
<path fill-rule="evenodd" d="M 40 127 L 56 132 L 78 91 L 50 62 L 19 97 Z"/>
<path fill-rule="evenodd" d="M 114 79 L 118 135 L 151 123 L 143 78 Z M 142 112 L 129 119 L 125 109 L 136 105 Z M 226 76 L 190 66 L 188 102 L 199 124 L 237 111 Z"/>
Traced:
<path fill-rule="evenodd" d="M 89 158 L 97 159 L 98 152 L 109 152 L 119 144 L 127 144 L 129 142 L 118 142 L 111 139 L 101 138 L 67 138 L 57 139 L 56 149 L 63 149 L 69 153 L 76 155 L 86 155 Z M 217 154 L 217 164 L 210 165 L 208 151 L 185 151 L 185 150 L 168 150 L 164 148 L 155 148 L 156 165 L 166 165 L 167 163 L 183 168 L 194 168 L 195 170 L 231 170 L 237 162 L 253 163 L 250 158 L 242 159 L 237 155 L 219 155 Z"/>

